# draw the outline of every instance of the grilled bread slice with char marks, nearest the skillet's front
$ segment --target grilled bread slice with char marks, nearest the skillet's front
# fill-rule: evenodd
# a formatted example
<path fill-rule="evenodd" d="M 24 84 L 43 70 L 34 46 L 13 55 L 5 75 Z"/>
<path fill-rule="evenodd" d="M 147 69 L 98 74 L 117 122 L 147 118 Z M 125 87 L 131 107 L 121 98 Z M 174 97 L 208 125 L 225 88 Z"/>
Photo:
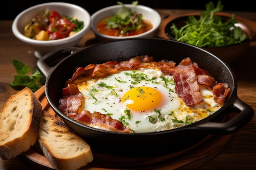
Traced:
<path fill-rule="evenodd" d="M 90 146 L 46 111 L 41 116 L 36 146 L 57 170 L 77 170 L 93 160 Z"/>

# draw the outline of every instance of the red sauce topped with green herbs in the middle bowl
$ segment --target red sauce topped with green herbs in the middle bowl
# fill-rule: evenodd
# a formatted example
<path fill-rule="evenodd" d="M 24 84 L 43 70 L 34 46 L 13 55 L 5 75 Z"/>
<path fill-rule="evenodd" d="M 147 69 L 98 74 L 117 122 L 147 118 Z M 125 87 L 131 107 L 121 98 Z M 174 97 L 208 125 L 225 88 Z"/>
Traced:
<path fill-rule="evenodd" d="M 150 21 L 143 18 L 141 13 L 132 11 L 121 2 L 117 3 L 121 5 L 119 11 L 113 16 L 98 22 L 96 30 L 99 33 L 110 36 L 132 36 L 139 35 L 153 28 Z M 132 4 L 135 8 L 138 1 L 134 1 Z"/>

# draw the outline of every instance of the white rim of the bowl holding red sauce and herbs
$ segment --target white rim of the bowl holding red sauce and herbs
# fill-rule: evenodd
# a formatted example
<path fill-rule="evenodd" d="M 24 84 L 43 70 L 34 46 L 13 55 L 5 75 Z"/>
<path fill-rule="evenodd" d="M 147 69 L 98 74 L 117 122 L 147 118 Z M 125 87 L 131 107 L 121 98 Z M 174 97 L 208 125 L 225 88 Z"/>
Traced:
<path fill-rule="evenodd" d="M 125 7 L 129 7 L 129 8 L 132 8 L 134 7 L 133 4 L 124 4 Z M 146 31 L 145 33 L 141 33 L 139 35 L 131 35 L 131 36 L 125 36 L 125 37 L 117 37 L 117 36 L 110 36 L 110 35 L 104 35 L 104 34 L 101 34 L 99 33 L 95 28 L 94 26 L 91 24 L 91 30 L 97 34 L 98 36 L 101 36 L 103 38 L 108 38 L 108 39 L 113 39 L 113 40 L 119 40 L 119 39 L 127 39 L 127 38 L 139 38 L 139 37 L 143 37 L 144 35 L 147 35 L 147 34 L 150 34 L 152 33 L 153 31 L 155 31 L 155 29 L 157 29 L 159 27 L 159 25 L 161 24 L 161 15 L 153 8 L 150 8 L 150 7 L 147 7 L 147 6 L 144 6 L 144 5 L 137 5 L 136 6 L 137 8 L 140 8 L 140 9 L 144 9 L 146 11 L 151 11 L 153 13 L 155 13 L 155 17 L 159 18 L 158 19 L 158 22 L 156 24 L 155 27 L 153 27 L 152 29 Z M 99 15 L 101 12 L 103 11 L 108 11 L 108 10 L 111 10 L 111 9 L 117 9 L 117 8 L 120 8 L 120 5 L 117 4 L 117 5 L 112 5 L 112 6 L 109 6 L 109 7 L 105 7 L 103 9 L 100 9 L 99 11 L 96 11 L 95 13 L 92 14 L 91 16 L 91 19 L 93 20 L 97 15 Z M 148 19 L 150 20 L 150 19 Z"/>

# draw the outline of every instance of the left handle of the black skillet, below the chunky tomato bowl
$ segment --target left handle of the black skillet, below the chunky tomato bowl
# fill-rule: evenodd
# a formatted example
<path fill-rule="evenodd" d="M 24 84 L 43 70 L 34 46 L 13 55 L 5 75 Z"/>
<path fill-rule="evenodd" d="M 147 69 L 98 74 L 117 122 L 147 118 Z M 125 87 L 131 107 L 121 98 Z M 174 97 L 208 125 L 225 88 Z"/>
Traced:
<path fill-rule="evenodd" d="M 36 63 L 38 71 L 40 71 L 45 78 L 48 77 L 58 62 L 64 60 L 70 54 L 81 51 L 81 49 L 81 47 L 61 47 L 47 53 Z"/>

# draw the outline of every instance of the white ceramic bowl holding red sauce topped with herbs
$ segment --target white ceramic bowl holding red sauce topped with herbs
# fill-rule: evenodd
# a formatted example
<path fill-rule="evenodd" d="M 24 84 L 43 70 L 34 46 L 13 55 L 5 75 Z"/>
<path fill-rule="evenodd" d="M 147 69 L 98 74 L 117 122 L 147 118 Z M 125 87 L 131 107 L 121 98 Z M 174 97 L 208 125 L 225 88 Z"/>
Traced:
<path fill-rule="evenodd" d="M 132 4 L 124 4 L 125 7 L 132 9 Z M 137 5 L 134 11 L 141 13 L 143 18 L 149 20 L 151 24 L 153 24 L 153 28 L 145 33 L 141 33 L 139 35 L 132 35 L 132 36 L 125 36 L 125 37 L 117 37 L 117 36 L 110 36 L 110 35 L 104 35 L 99 33 L 96 30 L 97 23 L 104 18 L 108 16 L 114 15 L 119 9 L 121 8 L 121 5 L 113 5 L 110 7 L 106 7 L 103 9 L 100 9 L 99 11 L 92 14 L 92 24 L 91 24 L 91 30 L 94 32 L 97 40 L 99 42 L 106 42 L 106 41 L 113 41 L 113 40 L 121 40 L 121 39 L 128 39 L 128 38 L 153 38 L 155 37 L 157 33 L 157 29 L 161 23 L 161 16 L 160 14 L 155 11 L 154 9 L 150 7 L 146 7 L 144 5 Z"/>

